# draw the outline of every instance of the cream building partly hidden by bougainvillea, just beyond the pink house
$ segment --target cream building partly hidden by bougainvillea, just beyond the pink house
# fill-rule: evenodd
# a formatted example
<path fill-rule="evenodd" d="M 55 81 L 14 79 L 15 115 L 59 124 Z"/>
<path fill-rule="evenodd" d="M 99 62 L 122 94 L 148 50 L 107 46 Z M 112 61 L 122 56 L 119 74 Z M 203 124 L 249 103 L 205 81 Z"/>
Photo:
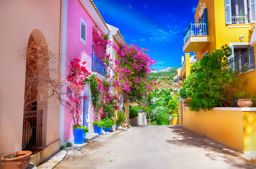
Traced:
<path fill-rule="evenodd" d="M 109 24 L 107 25 L 110 30 L 109 37 L 111 42 L 119 49 L 123 48 L 126 44 L 125 44 L 125 41 L 123 40 L 122 35 L 120 34 L 120 30 L 117 27 L 114 27 L 112 25 L 109 25 Z M 113 61 L 118 60 L 118 53 L 112 47 L 108 48 L 108 53 L 110 54 L 110 58 L 113 59 Z M 113 71 L 110 72 L 110 75 L 113 76 Z M 114 87 L 113 93 L 117 94 L 119 98 L 119 108 L 125 112 L 127 121 L 129 122 L 129 102 L 128 101 L 125 102 L 123 92 L 120 88 Z M 117 112 L 115 113 L 115 116 L 114 116 L 115 124 L 116 124 L 116 118 L 117 118 Z"/>

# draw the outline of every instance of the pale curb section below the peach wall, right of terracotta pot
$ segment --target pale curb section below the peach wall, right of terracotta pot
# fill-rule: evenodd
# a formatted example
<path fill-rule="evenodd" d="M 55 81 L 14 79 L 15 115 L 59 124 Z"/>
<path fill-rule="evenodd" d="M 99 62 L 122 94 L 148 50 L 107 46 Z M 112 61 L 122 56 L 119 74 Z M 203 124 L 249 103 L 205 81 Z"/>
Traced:
<path fill-rule="evenodd" d="M 67 152 L 64 150 L 60 150 L 49 159 L 46 160 L 43 164 L 37 166 L 37 169 L 53 169 L 57 164 L 59 164 L 64 157 L 66 157 Z"/>

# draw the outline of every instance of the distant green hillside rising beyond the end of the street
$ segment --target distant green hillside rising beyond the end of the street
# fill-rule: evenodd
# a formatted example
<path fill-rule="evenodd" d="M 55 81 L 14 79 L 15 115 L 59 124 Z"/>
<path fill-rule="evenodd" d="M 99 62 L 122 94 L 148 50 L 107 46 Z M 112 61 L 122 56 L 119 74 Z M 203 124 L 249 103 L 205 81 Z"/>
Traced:
<path fill-rule="evenodd" d="M 175 89 L 176 86 L 173 85 L 173 77 L 176 76 L 176 70 L 179 67 L 167 67 L 158 72 L 150 72 L 148 75 L 148 80 L 153 80 L 159 87 L 158 89 Z"/>

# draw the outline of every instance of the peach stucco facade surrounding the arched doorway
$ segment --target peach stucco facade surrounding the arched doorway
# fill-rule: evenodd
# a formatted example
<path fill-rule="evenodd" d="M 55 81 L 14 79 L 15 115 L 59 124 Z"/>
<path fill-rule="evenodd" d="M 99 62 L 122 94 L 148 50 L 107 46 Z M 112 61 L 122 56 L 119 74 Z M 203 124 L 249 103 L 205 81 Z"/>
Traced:
<path fill-rule="evenodd" d="M 0 157 L 22 149 L 26 53 L 29 38 L 46 40 L 50 51 L 60 51 L 61 1 L 9 1 L 0 5 L 2 51 L 0 70 Z M 47 18 L 47 19 L 46 19 Z M 55 65 L 58 66 L 58 65 Z M 42 146 L 59 140 L 60 103 L 47 100 L 42 113 Z"/>

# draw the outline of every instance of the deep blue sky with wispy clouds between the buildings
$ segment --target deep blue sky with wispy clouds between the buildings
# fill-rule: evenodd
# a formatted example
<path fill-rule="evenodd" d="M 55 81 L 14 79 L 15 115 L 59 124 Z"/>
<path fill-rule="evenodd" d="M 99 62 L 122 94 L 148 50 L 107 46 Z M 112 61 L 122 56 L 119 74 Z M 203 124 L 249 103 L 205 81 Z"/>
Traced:
<path fill-rule="evenodd" d="M 120 29 L 127 44 L 147 48 L 151 68 L 181 67 L 183 34 L 194 21 L 198 0 L 94 0 L 105 22 Z"/>

